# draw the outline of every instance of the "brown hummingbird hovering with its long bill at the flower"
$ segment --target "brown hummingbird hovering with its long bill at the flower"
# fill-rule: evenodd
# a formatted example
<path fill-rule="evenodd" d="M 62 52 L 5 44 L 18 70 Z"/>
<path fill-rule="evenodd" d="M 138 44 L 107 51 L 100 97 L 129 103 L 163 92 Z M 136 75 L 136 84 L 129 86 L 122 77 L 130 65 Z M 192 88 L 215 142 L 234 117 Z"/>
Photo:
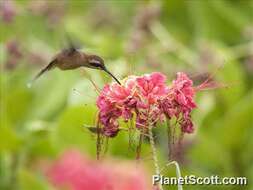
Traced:
<path fill-rule="evenodd" d="M 84 53 L 74 46 L 63 49 L 61 52 L 56 54 L 52 61 L 43 68 L 32 81 L 37 80 L 41 75 L 54 68 L 59 68 L 60 70 L 73 70 L 80 67 L 102 70 L 109 74 L 119 85 L 121 85 L 119 80 L 106 68 L 104 60 L 100 56 Z"/>

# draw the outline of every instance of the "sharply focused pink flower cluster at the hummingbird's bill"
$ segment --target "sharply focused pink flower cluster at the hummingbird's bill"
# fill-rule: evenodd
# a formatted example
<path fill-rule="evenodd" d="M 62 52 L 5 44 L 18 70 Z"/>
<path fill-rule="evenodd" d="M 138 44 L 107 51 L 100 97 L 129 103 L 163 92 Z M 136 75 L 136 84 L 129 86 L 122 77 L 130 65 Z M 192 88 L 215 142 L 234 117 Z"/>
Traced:
<path fill-rule="evenodd" d="M 154 72 L 129 76 L 122 85 L 106 85 L 97 99 L 103 134 L 114 137 L 119 131 L 118 119 L 128 121 L 134 115 L 138 129 L 175 117 L 182 132 L 192 133 L 191 111 L 196 107 L 192 80 L 184 73 L 177 73 L 171 86 L 165 82 L 165 75 Z"/>

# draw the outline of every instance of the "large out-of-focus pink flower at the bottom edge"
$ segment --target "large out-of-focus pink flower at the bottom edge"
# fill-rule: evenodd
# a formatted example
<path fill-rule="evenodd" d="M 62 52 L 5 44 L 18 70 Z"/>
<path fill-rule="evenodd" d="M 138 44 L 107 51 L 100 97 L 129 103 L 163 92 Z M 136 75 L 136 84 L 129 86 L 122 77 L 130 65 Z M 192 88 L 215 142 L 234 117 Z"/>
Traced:
<path fill-rule="evenodd" d="M 80 152 L 65 152 L 50 166 L 47 176 L 57 189 L 148 190 L 145 172 L 129 163 L 89 160 Z"/>

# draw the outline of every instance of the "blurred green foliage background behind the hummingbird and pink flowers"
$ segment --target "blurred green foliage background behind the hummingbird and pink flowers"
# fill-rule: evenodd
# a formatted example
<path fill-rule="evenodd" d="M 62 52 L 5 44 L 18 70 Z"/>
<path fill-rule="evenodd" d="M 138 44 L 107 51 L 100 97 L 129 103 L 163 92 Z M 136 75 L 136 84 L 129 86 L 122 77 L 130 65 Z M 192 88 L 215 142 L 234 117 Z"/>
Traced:
<path fill-rule="evenodd" d="M 51 189 L 38 165 L 69 148 L 95 159 L 95 137 L 84 126 L 95 124 L 97 94 L 87 76 L 100 88 L 111 79 L 55 69 L 26 85 L 66 46 L 66 34 L 121 79 L 153 71 L 173 79 L 184 71 L 199 84 L 214 74 L 228 88 L 198 94 L 196 131 L 178 158 L 182 175 L 246 176 L 249 184 L 185 189 L 253 189 L 252 0 L 0 0 L 0 15 L 0 189 Z M 164 130 L 156 130 L 161 166 Z M 106 157 L 135 159 L 127 134 L 109 144 Z M 143 162 L 152 173 L 152 161 Z M 175 176 L 173 167 L 166 172 Z"/>

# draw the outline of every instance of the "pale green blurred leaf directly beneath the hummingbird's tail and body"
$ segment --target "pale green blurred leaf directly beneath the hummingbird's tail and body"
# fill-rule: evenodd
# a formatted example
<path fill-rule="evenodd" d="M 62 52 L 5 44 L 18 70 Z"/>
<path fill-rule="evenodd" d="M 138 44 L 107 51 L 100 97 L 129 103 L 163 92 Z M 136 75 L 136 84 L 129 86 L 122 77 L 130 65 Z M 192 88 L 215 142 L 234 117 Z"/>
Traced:
<path fill-rule="evenodd" d="M 52 71 L 48 78 L 36 81 L 32 88 L 35 90 L 32 118 L 54 118 L 67 102 L 67 94 L 75 81 L 74 72 Z M 50 79 L 50 80 L 49 80 Z"/>

